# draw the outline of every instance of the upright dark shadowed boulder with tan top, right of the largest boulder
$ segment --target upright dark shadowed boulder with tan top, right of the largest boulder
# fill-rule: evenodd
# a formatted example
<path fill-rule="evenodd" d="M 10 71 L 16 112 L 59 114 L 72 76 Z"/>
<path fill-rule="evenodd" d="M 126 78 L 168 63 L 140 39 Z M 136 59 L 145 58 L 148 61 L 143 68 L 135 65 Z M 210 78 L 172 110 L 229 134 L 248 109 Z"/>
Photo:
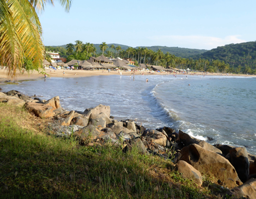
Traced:
<path fill-rule="evenodd" d="M 230 162 L 238 173 L 240 180 L 245 183 L 249 177 L 250 162 L 245 147 L 236 147 L 230 150 Z"/>

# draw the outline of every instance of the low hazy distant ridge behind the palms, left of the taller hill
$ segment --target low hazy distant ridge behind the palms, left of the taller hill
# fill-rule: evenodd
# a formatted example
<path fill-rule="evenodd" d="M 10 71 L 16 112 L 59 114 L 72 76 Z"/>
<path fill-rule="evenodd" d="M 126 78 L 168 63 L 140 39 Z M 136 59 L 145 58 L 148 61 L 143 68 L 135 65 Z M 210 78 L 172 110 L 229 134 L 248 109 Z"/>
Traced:
<path fill-rule="evenodd" d="M 109 51 L 113 51 L 115 52 L 114 49 L 110 48 L 110 45 L 114 45 L 115 47 L 117 46 L 121 46 L 122 49 L 127 50 L 127 48 L 131 47 L 131 46 L 126 46 L 126 45 L 122 45 L 122 44 L 115 44 L 115 43 L 111 43 L 111 44 L 107 44 L 108 48 L 106 50 Z M 100 53 L 100 44 L 94 44 L 94 46 L 96 47 L 96 53 Z M 53 48 L 57 48 L 57 47 L 63 47 L 66 48 L 66 45 L 61 45 L 61 46 L 50 46 Z M 163 53 L 171 53 L 177 57 L 182 57 L 182 58 L 190 58 L 193 57 L 195 55 L 199 55 L 202 53 L 207 52 L 208 50 L 199 50 L 199 49 L 190 49 L 190 48 L 179 48 L 179 47 L 167 47 L 167 46 L 137 46 L 136 48 L 141 47 L 141 48 L 148 48 L 153 50 L 154 52 L 158 51 L 159 49 L 161 49 L 161 51 L 163 51 Z"/>

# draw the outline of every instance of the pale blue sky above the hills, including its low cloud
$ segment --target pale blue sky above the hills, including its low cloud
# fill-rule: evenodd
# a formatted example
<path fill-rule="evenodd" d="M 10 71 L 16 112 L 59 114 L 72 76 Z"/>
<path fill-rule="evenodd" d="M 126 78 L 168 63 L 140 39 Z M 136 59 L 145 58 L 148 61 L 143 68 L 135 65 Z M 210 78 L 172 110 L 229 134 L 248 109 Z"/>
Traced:
<path fill-rule="evenodd" d="M 255 7 L 256 0 L 73 0 L 65 12 L 55 0 L 39 19 L 46 46 L 81 40 L 210 50 L 256 41 Z"/>

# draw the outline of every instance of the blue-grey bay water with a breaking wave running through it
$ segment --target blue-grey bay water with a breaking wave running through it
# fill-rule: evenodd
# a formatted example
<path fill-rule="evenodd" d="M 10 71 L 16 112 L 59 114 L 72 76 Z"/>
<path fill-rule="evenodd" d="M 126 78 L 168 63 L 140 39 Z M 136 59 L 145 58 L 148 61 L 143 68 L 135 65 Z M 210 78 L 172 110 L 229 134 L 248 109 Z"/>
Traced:
<path fill-rule="evenodd" d="M 133 81 L 113 75 L 51 78 L 1 88 L 45 100 L 59 96 L 68 110 L 110 105 L 116 119 L 137 119 L 148 128 L 170 126 L 199 139 L 213 137 L 211 144 L 246 146 L 256 154 L 256 78 L 169 75 L 135 76 Z"/>

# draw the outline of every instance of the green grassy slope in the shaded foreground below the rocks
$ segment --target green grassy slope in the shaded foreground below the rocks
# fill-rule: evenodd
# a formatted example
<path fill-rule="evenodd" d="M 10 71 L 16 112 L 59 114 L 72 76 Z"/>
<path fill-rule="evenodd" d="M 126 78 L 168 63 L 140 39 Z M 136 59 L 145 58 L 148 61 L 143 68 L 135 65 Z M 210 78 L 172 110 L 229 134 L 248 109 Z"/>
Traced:
<path fill-rule="evenodd" d="M 79 145 L 47 135 L 47 120 L 0 103 L 1 199 L 219 199 L 224 191 L 183 179 L 171 160 L 133 148 Z"/>

